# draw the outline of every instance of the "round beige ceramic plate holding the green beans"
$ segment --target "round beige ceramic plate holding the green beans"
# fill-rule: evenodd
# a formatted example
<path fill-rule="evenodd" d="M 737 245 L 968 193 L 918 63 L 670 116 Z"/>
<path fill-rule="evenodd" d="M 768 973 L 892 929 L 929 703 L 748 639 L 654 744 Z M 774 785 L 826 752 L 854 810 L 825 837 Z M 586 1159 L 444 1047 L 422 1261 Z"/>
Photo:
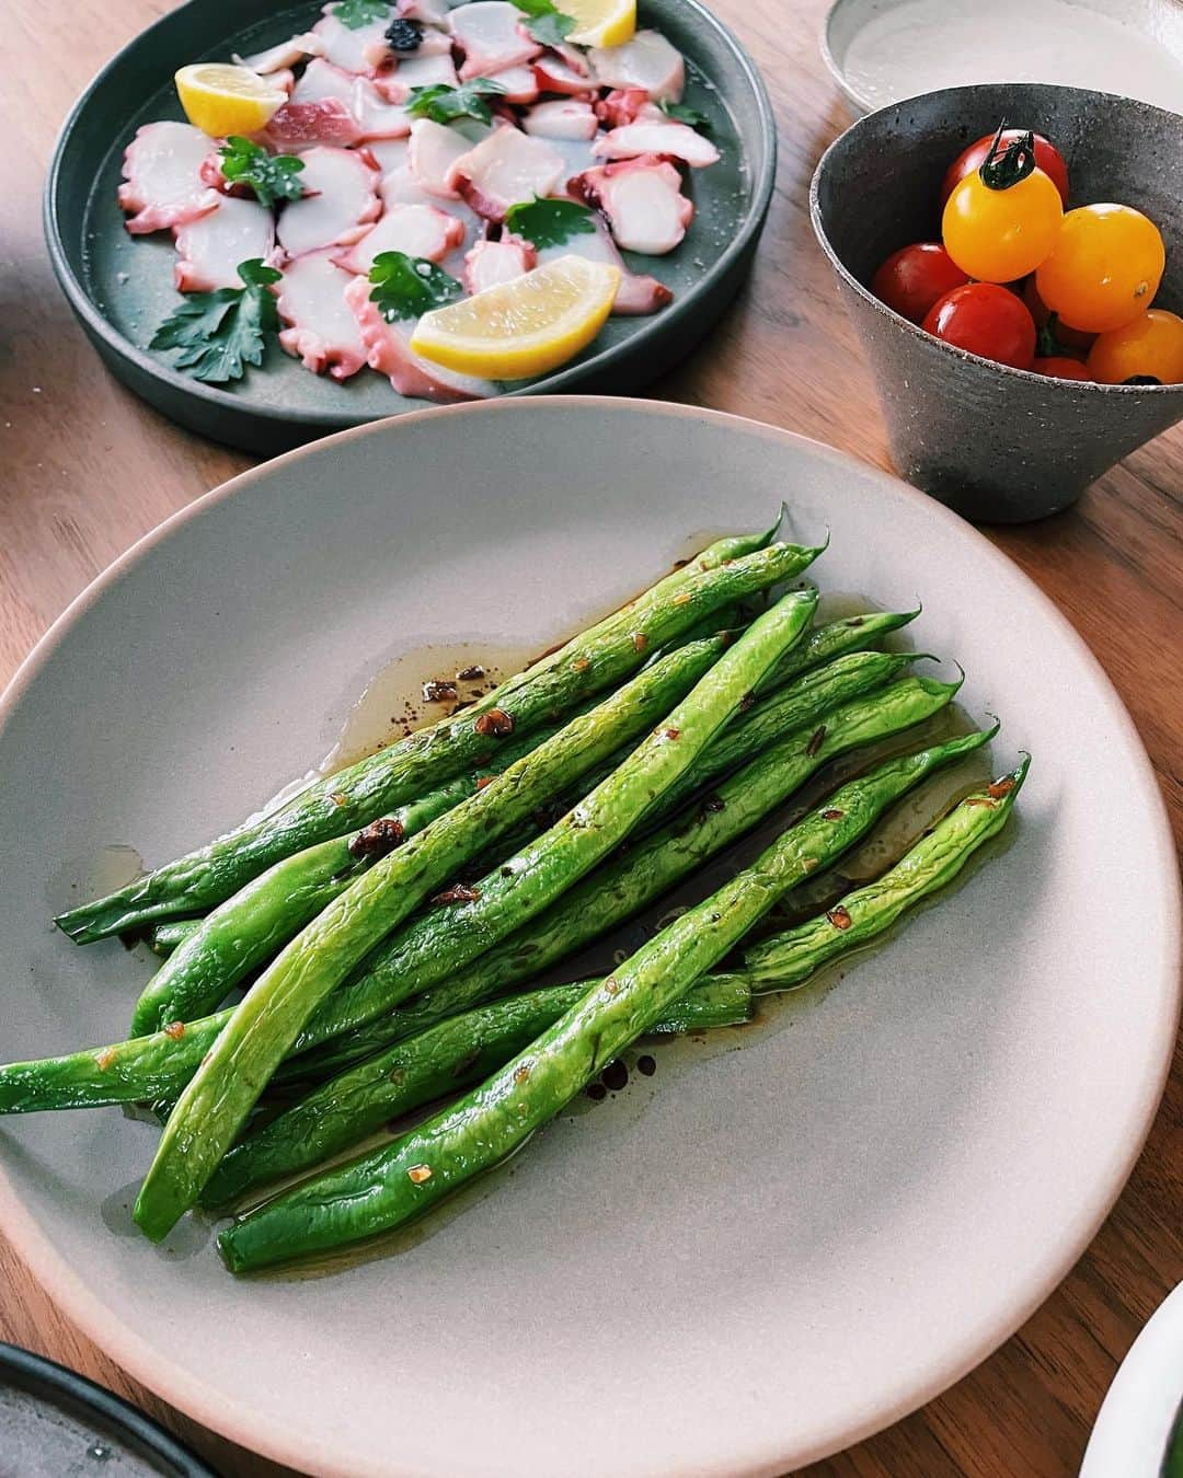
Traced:
<path fill-rule="evenodd" d="M 78 1324 L 201 1422 L 297 1469 L 779 1474 L 1000 1344 L 1139 1153 L 1177 1011 L 1179 894 L 1150 769 L 1069 627 L 967 525 L 784 432 L 562 399 L 432 411 L 235 479 L 41 641 L 0 715 L 6 1057 L 123 1029 L 143 962 L 52 912 L 101 850 L 149 862 L 328 748 L 427 641 L 538 647 L 688 535 L 766 526 L 908 607 L 1034 754 L 1011 845 L 741 1049 L 563 1116 L 463 1213 L 334 1276 L 234 1281 L 211 1228 L 127 1206 L 154 1131 L 0 1125 L 0 1224 Z M 685 1052 L 683 1052 L 685 1058 Z"/>

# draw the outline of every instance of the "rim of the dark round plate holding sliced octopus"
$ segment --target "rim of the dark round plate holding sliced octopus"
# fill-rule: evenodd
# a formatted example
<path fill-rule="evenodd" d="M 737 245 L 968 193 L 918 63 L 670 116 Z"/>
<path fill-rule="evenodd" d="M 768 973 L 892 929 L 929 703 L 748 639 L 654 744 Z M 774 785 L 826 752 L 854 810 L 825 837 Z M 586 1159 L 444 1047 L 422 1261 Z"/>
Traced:
<path fill-rule="evenodd" d="M 720 256 L 707 268 L 701 279 L 695 282 L 682 299 L 671 303 L 665 312 L 655 313 L 652 318 L 646 319 L 646 322 L 630 334 L 624 343 L 603 349 L 590 359 L 586 359 L 578 365 L 559 370 L 556 374 L 537 380 L 532 384 L 507 390 L 503 395 L 495 396 L 495 399 L 569 390 L 572 386 L 578 386 L 583 380 L 590 378 L 592 375 L 600 375 L 615 365 L 631 359 L 634 355 L 643 355 L 654 338 L 664 337 L 673 324 L 680 322 L 692 313 L 701 304 L 704 297 L 708 297 L 720 282 L 726 281 L 728 273 L 742 263 L 745 254 L 754 248 L 754 244 L 763 229 L 776 182 L 776 117 L 772 109 L 767 86 L 765 84 L 760 69 L 748 55 L 742 41 L 739 41 L 735 33 L 707 9 L 702 0 L 677 0 L 677 3 L 685 6 L 686 10 L 691 10 L 711 33 L 713 52 L 717 52 L 719 49 L 731 52 L 733 61 L 739 65 L 744 80 L 756 102 L 756 133 L 759 136 L 759 142 L 763 143 L 765 163 L 759 176 L 751 180 L 750 198 L 742 220 L 739 222 L 739 229 L 731 238 Z M 200 380 L 194 380 L 191 375 L 185 375 L 180 371 L 173 370 L 170 365 L 166 365 L 155 356 L 149 355 L 145 349 L 133 344 L 108 321 L 108 318 L 92 302 L 90 294 L 86 291 L 86 287 L 78 279 L 78 275 L 74 272 L 67 257 L 65 239 L 58 211 L 59 180 L 64 158 L 74 140 L 74 134 L 86 117 L 90 99 L 108 75 L 115 68 L 123 65 L 126 55 L 133 47 L 140 46 L 148 37 L 176 24 L 176 18 L 185 10 L 206 4 L 209 4 L 209 0 L 185 0 L 183 4 L 177 6 L 174 10 L 166 12 L 151 25 L 136 33 L 136 35 L 121 46 L 118 52 L 115 52 L 115 55 L 95 74 L 67 114 L 65 123 L 62 124 L 53 145 L 44 191 L 41 194 L 41 225 L 46 247 L 49 250 L 50 266 L 55 278 L 58 279 L 58 285 L 86 331 L 92 337 L 102 340 L 112 355 L 124 364 L 135 367 L 142 374 L 170 386 L 177 393 L 189 396 L 194 401 L 204 402 L 211 409 L 222 409 L 232 415 L 248 414 L 257 417 L 260 423 L 274 426 L 311 427 L 321 433 L 343 432 L 350 430 L 355 426 L 370 426 L 374 421 L 387 420 L 387 415 L 358 417 L 342 411 L 325 409 L 293 414 L 285 411 L 282 406 L 256 405 L 234 392 L 219 390 L 216 386 L 204 384 Z M 728 99 L 722 95 L 722 90 L 720 96 L 726 106 Z M 731 109 L 728 111 L 731 112 Z M 741 133 L 741 130 L 736 129 L 736 133 Z M 741 143 L 742 142 L 744 139 L 741 133 Z M 744 149 L 745 161 L 750 152 L 750 149 Z M 389 415 L 402 415 L 413 409 L 420 409 L 420 406 L 407 405 L 405 408 L 399 408 L 398 405 L 393 405 Z M 427 409 L 430 409 L 430 406 L 427 406 Z"/>

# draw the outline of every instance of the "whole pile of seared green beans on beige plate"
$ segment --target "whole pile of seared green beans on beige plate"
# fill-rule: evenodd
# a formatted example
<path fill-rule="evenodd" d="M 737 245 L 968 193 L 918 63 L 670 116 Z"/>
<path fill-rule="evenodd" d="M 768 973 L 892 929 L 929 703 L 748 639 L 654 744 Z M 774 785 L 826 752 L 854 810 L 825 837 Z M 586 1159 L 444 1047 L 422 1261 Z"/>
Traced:
<path fill-rule="evenodd" d="M 933 742 L 921 727 L 960 683 L 878 650 L 918 612 L 813 625 L 816 591 L 785 587 L 821 553 L 775 528 L 717 539 L 472 706 L 64 913 L 75 943 L 130 933 L 163 964 L 126 1041 L 0 1066 L 0 1113 L 157 1106 L 133 1212 L 154 1242 L 197 1205 L 297 1178 L 222 1233 L 228 1268 L 245 1273 L 401 1227 L 639 1038 L 741 1027 L 760 995 L 881 936 L 1001 831 L 1029 761 L 875 881 L 751 944 L 778 900 L 997 733 Z M 868 769 L 859 752 L 875 745 L 896 757 Z M 831 777 L 611 974 L 537 983 L 850 754 L 865 773 Z"/>

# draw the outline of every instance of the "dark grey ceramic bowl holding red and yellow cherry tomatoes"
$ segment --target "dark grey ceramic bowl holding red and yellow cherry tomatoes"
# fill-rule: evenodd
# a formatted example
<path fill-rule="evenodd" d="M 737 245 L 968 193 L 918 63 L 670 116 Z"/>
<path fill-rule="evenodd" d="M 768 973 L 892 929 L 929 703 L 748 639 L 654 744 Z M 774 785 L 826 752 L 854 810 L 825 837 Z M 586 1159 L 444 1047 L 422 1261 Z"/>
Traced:
<path fill-rule="evenodd" d="M 1158 225 L 1167 273 L 1155 306 L 1183 310 L 1183 117 L 1128 98 L 1011 83 L 881 108 L 825 151 L 810 211 L 871 359 L 901 474 L 969 519 L 1022 523 L 1066 508 L 1183 420 L 1183 384 L 1108 386 L 1009 370 L 933 338 L 868 291 L 898 247 L 939 239 L 945 170 L 1003 117 L 1059 145 L 1074 205 L 1119 201 Z"/>

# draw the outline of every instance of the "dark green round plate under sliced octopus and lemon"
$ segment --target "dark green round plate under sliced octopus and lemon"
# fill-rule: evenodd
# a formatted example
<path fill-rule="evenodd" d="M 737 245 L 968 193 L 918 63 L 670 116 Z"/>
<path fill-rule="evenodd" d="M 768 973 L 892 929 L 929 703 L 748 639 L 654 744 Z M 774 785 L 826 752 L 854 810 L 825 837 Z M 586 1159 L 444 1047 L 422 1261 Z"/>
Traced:
<path fill-rule="evenodd" d="M 149 352 L 154 330 L 177 303 L 172 238 L 130 236 L 115 201 L 123 151 L 143 123 L 180 118 L 173 72 L 186 62 L 248 55 L 306 30 L 316 0 L 189 0 L 157 21 L 109 62 L 62 129 L 46 182 L 44 223 L 53 270 L 109 370 L 182 426 L 256 452 L 421 409 L 384 377 L 345 384 L 318 377 L 272 344 L 263 365 L 231 387 L 170 368 Z M 772 198 L 776 133 L 753 62 L 696 0 L 642 0 L 642 25 L 658 27 L 688 61 L 686 101 L 707 114 L 723 158 L 689 182 L 695 219 L 667 257 L 631 257 L 655 270 L 674 302 L 652 318 L 609 321 L 596 343 L 557 374 L 512 393 L 628 393 L 677 364 L 738 290 Z"/>

